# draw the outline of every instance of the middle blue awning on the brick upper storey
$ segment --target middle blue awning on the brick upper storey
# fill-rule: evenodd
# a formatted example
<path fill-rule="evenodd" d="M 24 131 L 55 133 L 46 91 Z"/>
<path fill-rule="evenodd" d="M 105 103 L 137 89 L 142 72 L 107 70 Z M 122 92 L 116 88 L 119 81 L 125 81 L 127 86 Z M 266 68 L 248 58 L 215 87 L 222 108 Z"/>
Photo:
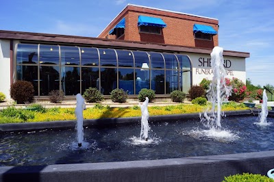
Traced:
<path fill-rule="evenodd" d="M 151 16 L 138 16 L 138 26 L 154 26 L 154 27 L 166 27 L 166 23 L 161 18 L 155 18 Z"/>

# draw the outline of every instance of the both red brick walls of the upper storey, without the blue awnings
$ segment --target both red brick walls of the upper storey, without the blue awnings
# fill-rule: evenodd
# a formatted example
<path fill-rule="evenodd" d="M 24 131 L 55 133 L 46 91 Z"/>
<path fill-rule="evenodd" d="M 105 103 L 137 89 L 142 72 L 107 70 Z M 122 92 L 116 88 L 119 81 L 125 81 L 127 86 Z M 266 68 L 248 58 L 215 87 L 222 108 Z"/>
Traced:
<path fill-rule="evenodd" d="M 162 29 L 161 35 L 139 33 L 137 25 L 139 15 L 162 18 L 167 26 Z M 193 25 L 195 23 L 210 25 L 218 31 L 218 20 L 135 6 L 128 6 L 121 14 L 119 14 L 111 25 L 108 26 L 101 35 L 99 35 L 99 38 L 105 38 L 110 29 L 112 29 L 116 23 L 121 21 L 123 17 L 125 17 L 125 36 L 119 38 L 120 40 L 154 42 L 204 48 L 213 48 L 219 44 L 218 34 L 213 36 L 212 41 L 197 40 L 193 36 Z M 116 36 L 108 35 L 108 38 L 115 39 Z"/>

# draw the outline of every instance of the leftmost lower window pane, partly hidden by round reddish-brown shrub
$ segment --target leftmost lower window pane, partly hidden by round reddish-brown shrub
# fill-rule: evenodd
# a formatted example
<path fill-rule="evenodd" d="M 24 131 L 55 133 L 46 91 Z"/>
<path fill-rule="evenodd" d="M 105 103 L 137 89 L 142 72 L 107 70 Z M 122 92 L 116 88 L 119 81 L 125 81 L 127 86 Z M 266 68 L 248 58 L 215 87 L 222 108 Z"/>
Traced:
<path fill-rule="evenodd" d="M 17 80 L 32 82 L 34 86 L 34 95 L 38 95 L 38 66 L 18 65 L 16 68 Z"/>

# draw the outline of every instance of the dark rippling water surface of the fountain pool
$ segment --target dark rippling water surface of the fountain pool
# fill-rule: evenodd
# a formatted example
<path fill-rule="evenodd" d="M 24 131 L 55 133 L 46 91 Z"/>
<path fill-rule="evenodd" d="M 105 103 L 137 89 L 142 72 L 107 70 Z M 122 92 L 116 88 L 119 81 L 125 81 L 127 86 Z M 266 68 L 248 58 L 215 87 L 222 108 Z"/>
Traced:
<path fill-rule="evenodd" d="M 74 129 L 1 133 L 0 166 L 75 164 L 168 159 L 274 150 L 271 125 L 254 124 L 255 116 L 222 120 L 222 131 L 209 135 L 199 120 L 149 123 L 149 141 L 139 140 L 140 125 L 84 129 L 84 144 L 77 147 Z M 257 121 L 258 122 L 258 121 Z"/>

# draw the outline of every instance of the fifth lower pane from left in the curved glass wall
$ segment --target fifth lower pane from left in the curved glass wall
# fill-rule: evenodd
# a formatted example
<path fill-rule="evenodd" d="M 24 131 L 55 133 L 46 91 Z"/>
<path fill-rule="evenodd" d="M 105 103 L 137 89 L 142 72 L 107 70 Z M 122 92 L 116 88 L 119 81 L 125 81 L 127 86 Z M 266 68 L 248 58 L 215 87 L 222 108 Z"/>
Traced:
<path fill-rule="evenodd" d="M 115 88 L 117 88 L 117 69 L 101 68 L 101 93 L 110 95 Z"/>

